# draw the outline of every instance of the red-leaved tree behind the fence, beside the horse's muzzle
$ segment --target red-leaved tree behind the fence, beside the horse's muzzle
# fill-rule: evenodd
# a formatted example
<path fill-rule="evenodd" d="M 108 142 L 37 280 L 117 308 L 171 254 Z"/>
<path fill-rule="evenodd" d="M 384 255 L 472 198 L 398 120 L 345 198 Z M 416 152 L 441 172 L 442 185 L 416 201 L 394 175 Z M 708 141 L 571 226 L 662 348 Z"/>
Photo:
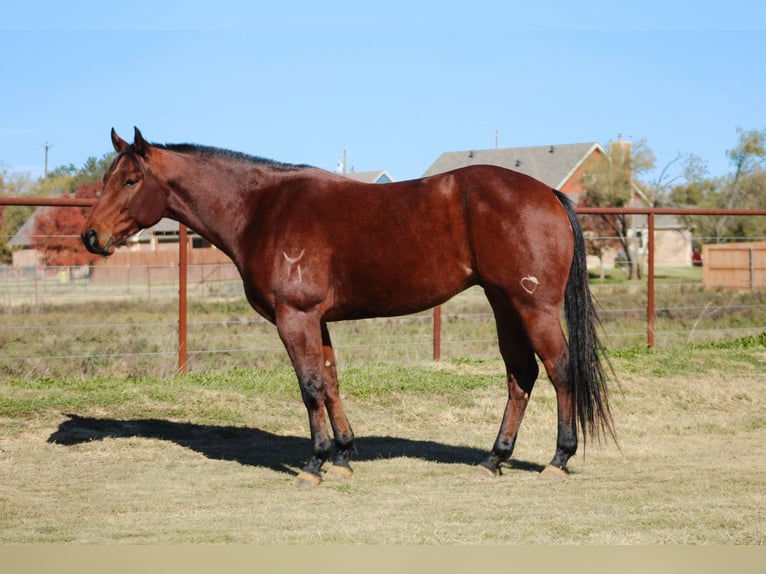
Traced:
<path fill-rule="evenodd" d="M 83 185 L 74 197 L 95 198 L 100 189 L 100 183 Z M 37 211 L 32 247 L 42 252 L 46 265 L 71 267 L 98 259 L 80 240 L 88 210 L 87 207 L 49 207 Z"/>

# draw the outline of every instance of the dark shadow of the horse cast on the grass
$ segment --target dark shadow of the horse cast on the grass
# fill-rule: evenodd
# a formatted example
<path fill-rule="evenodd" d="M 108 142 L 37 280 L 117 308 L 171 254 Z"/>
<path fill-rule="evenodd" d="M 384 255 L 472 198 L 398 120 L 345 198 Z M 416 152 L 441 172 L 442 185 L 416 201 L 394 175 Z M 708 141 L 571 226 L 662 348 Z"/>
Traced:
<path fill-rule="evenodd" d="M 72 446 L 106 438 L 153 438 L 174 442 L 215 460 L 270 468 L 295 475 L 310 452 L 310 441 L 296 436 L 276 435 L 257 428 L 200 425 L 159 419 L 99 419 L 69 414 L 49 443 Z M 355 460 L 418 458 L 430 462 L 473 465 L 486 456 L 480 449 L 433 441 L 397 437 L 359 437 Z M 517 470 L 539 472 L 542 466 L 509 461 Z"/>

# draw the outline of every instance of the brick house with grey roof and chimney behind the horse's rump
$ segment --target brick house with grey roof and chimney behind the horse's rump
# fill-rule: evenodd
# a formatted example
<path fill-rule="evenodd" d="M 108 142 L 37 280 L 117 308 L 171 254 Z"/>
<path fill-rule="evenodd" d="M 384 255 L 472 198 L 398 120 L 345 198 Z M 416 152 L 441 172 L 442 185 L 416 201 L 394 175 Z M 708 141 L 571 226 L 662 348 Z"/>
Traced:
<path fill-rule="evenodd" d="M 620 146 L 623 153 L 631 153 L 630 142 L 619 140 L 612 142 L 611 145 L 613 152 L 616 151 L 614 146 Z M 468 165 L 498 165 L 532 176 L 551 188 L 565 193 L 574 203 L 579 203 L 584 190 L 583 181 L 588 175 L 589 167 L 611 155 L 613 154 L 607 153 L 600 144 L 595 142 L 445 152 L 423 175 L 435 175 Z M 635 207 L 649 205 L 648 199 L 635 184 L 630 205 Z M 647 217 L 634 216 L 631 223 L 632 229 L 629 231 L 629 236 L 636 238 L 638 255 L 645 258 L 647 242 L 644 238 L 648 233 Z M 618 253 L 612 251 L 604 256 L 603 261 L 590 257 L 589 265 L 603 264 L 611 268 L 614 267 L 617 256 Z M 656 218 L 655 265 L 659 267 L 691 265 L 691 259 L 692 244 L 689 230 L 675 217 Z"/>

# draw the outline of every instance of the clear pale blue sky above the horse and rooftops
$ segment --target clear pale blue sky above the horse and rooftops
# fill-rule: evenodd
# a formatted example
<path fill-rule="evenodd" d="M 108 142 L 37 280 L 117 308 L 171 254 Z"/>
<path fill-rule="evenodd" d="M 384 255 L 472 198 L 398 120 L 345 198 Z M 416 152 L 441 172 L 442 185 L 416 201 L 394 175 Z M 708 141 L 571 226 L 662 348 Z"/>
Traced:
<path fill-rule="evenodd" d="M 658 169 L 696 154 L 722 175 L 737 128 L 766 128 L 762 2 L 273 4 L 4 7 L 0 166 L 39 176 L 48 142 L 50 167 L 79 167 L 110 151 L 111 127 L 131 139 L 136 125 L 326 169 L 346 150 L 394 179 L 496 134 L 622 134 Z"/>

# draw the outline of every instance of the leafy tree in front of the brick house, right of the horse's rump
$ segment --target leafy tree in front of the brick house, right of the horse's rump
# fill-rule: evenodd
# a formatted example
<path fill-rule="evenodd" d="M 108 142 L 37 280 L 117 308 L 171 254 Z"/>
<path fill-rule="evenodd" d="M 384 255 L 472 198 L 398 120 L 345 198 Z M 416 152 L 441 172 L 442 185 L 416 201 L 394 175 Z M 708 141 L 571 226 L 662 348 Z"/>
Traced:
<path fill-rule="evenodd" d="M 588 207 L 628 207 L 638 191 L 635 177 L 654 167 L 654 154 L 644 140 L 635 144 L 610 142 L 606 156 L 594 157 L 583 177 L 584 193 L 580 205 Z M 613 237 L 622 247 L 630 278 L 640 276 L 638 253 L 631 241 L 632 216 L 598 214 L 583 217 L 583 228 L 601 237 Z M 591 249 L 598 249 L 591 242 Z M 594 253 L 595 254 L 595 253 Z"/>

